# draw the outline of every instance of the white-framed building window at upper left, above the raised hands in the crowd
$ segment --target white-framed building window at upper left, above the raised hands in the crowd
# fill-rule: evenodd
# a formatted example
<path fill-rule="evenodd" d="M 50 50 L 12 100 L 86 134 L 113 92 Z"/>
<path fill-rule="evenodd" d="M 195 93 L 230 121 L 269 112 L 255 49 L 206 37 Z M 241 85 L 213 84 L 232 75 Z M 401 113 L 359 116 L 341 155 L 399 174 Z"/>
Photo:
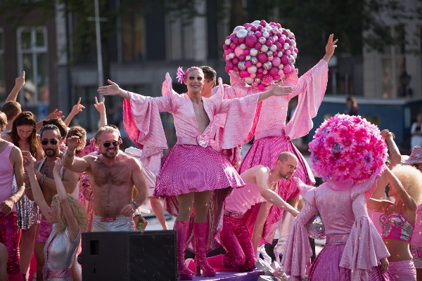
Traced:
<path fill-rule="evenodd" d="M 18 73 L 25 70 L 25 86 L 20 103 L 49 103 L 46 27 L 18 28 Z"/>

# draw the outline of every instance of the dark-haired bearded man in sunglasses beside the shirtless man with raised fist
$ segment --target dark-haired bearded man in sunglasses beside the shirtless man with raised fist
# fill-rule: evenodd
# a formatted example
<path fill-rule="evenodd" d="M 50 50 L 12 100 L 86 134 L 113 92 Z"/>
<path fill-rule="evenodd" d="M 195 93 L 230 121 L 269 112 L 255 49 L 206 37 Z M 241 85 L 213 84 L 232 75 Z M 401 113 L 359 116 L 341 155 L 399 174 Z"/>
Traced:
<path fill-rule="evenodd" d="M 41 128 L 41 147 L 44 150 L 46 157 L 35 165 L 35 176 L 41 187 L 42 193 L 47 204 L 51 204 L 54 195 L 57 194 L 56 183 L 54 182 L 53 168 L 54 161 L 59 157 L 63 158 L 64 153 L 60 152 L 59 146 L 63 141 L 60 135 L 60 130 L 56 125 L 46 125 Z M 62 169 L 60 176 L 65 186 L 65 190 L 68 193 L 72 193 L 75 190 L 77 181 L 79 180 L 79 174 L 70 171 L 69 169 Z M 30 178 L 28 177 L 27 171 L 23 176 L 26 187 L 30 186 Z M 30 200 L 34 200 L 32 196 L 32 190 L 28 188 L 25 190 L 27 197 Z M 37 258 L 37 280 L 42 280 L 42 266 L 44 266 L 44 245 L 49 239 L 51 234 L 51 224 L 43 216 L 37 237 L 35 238 L 35 257 Z"/>

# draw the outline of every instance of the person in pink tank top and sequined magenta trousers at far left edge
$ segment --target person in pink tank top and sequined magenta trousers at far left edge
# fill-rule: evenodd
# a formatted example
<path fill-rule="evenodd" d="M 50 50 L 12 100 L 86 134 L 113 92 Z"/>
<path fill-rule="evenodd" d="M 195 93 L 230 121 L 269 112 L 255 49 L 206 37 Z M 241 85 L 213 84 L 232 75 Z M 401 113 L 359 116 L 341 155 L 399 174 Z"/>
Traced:
<path fill-rule="evenodd" d="M 7 117 L 0 112 L 0 133 L 4 131 Z M 7 277 L 11 281 L 23 280 L 19 266 L 18 216 L 15 204 L 25 191 L 23 184 L 23 157 L 20 149 L 0 138 L 0 243 L 8 252 Z M 13 176 L 17 191 L 13 195 Z"/>

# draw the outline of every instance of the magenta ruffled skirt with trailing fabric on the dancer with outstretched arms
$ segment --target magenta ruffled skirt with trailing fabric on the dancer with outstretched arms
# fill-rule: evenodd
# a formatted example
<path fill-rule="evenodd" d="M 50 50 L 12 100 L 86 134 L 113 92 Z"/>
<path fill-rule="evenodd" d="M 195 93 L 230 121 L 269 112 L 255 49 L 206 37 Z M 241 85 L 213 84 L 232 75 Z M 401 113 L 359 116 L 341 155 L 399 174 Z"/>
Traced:
<path fill-rule="evenodd" d="M 208 211 L 207 241 L 207 251 L 212 251 L 219 247 L 215 236 L 219 236 L 222 229 L 224 200 L 232 188 L 241 188 L 244 185 L 229 159 L 220 152 L 198 145 L 174 145 L 162 161 L 154 196 L 164 197 L 166 211 L 172 216 L 177 216 L 179 214 L 177 195 L 213 190 Z M 195 210 L 191 214 L 187 247 L 196 252 L 193 239 L 194 217 Z"/>

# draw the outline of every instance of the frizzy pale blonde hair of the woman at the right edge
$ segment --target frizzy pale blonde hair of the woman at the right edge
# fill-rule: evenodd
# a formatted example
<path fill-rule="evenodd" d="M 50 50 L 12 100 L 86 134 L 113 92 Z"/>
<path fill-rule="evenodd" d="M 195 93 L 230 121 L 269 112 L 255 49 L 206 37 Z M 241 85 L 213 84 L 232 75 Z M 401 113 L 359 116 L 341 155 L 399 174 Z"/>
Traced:
<path fill-rule="evenodd" d="M 404 190 L 416 201 L 416 204 L 421 204 L 422 173 L 411 165 L 397 165 L 392 169 L 392 174 L 399 179 Z"/>

